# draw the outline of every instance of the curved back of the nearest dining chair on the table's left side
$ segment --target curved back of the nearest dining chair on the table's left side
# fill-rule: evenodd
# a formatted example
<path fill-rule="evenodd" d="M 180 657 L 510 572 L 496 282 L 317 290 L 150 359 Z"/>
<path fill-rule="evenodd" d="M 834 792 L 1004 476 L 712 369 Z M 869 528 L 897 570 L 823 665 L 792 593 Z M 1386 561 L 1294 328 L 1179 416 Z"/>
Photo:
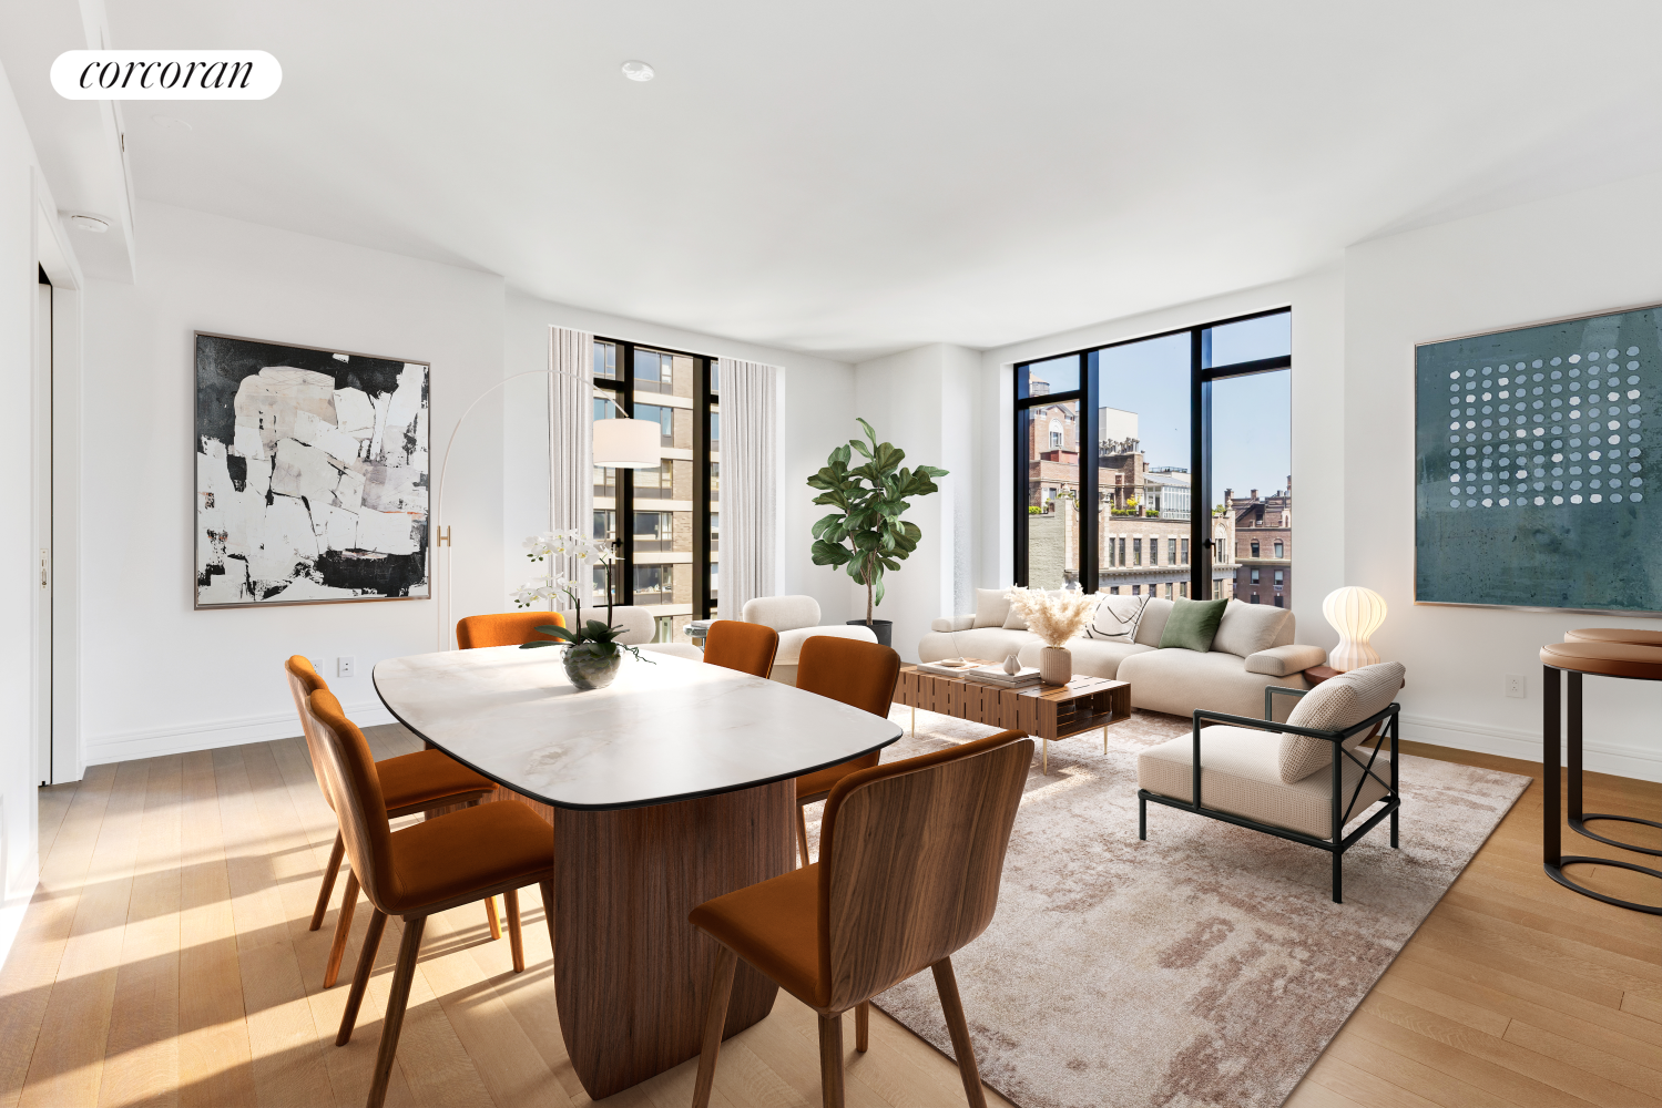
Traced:
<path fill-rule="evenodd" d="M 381 794 L 376 759 L 364 733 L 346 718 L 332 693 L 319 689 L 307 696 L 306 711 L 317 734 L 317 753 L 324 761 L 322 779 L 341 822 L 346 856 L 352 860 L 352 872 L 364 895 L 386 912 L 386 905 L 397 899 L 397 890 L 392 887 L 392 829 L 387 826 L 387 804 Z"/>

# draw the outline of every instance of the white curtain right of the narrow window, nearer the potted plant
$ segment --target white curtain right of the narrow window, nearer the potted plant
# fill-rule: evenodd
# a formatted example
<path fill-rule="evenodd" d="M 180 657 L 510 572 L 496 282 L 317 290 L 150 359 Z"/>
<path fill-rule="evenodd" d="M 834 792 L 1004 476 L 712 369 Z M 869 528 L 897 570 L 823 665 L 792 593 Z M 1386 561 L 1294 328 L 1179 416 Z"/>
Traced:
<path fill-rule="evenodd" d="M 721 561 L 718 615 L 773 596 L 778 543 L 778 377 L 773 365 L 721 359 Z"/>

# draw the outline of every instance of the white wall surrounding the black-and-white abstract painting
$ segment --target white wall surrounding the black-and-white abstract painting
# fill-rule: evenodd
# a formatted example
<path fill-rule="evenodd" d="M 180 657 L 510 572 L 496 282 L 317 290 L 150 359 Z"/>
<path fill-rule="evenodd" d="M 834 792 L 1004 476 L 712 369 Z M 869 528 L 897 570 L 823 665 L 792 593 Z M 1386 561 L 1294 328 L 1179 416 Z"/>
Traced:
<path fill-rule="evenodd" d="M 86 762 L 296 734 L 289 655 L 331 659 L 354 719 L 386 721 L 371 669 L 434 650 L 435 601 L 191 606 L 193 331 L 432 362 L 437 465 L 502 374 L 502 279 L 163 204 L 140 214 L 138 282 L 86 292 L 83 523 L 103 552 L 83 571 Z M 500 485 L 487 400 L 450 465 L 459 611 L 500 608 Z M 337 656 L 356 678 L 334 676 Z"/>

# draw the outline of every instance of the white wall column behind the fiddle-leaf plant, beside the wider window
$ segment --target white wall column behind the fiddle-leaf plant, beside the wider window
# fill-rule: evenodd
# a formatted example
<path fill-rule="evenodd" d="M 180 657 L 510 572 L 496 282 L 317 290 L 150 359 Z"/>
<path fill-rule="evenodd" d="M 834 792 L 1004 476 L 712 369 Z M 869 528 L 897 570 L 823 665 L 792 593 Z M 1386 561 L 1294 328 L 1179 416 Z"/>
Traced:
<path fill-rule="evenodd" d="M 873 613 L 894 623 L 894 650 L 917 661 L 917 641 L 929 621 L 974 606 L 976 493 L 982 475 L 977 442 L 976 377 L 979 354 L 932 344 L 854 367 L 854 415 L 906 452 L 906 467 L 939 465 L 941 492 L 912 500 L 906 518 L 922 540 L 897 571 L 884 578 L 888 595 Z M 859 424 L 843 439 L 861 437 Z M 866 615 L 866 586 L 846 581 L 851 618 Z"/>

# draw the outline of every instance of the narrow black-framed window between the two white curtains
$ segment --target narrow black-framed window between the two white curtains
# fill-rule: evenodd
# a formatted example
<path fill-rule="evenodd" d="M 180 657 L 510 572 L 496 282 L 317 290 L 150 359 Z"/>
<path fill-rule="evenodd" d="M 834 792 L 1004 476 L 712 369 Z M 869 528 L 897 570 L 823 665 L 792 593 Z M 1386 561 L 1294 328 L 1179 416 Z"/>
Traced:
<path fill-rule="evenodd" d="M 595 538 L 618 556 L 612 580 L 595 568 L 590 601 L 605 603 L 610 588 L 615 603 L 647 608 L 661 643 L 715 606 L 716 387 L 713 359 L 595 339 L 595 419 L 617 419 L 608 395 L 660 434 L 656 467 L 595 467 Z"/>

